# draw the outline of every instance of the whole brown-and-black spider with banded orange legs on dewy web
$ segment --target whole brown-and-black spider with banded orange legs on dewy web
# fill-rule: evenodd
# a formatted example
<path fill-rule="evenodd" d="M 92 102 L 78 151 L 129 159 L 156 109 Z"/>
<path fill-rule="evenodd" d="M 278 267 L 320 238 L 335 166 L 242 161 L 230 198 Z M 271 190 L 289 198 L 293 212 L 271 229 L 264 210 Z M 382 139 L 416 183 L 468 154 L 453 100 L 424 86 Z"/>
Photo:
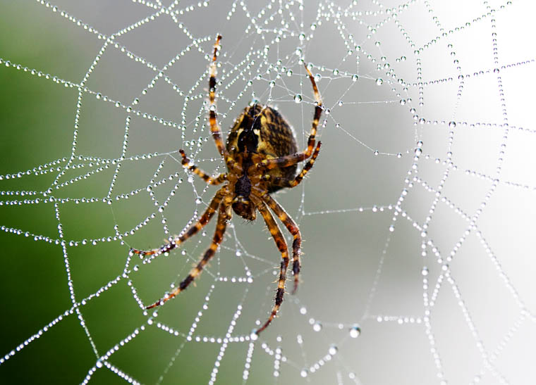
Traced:
<path fill-rule="evenodd" d="M 224 183 L 224 185 L 214 195 L 205 213 L 201 215 L 200 219 L 188 231 L 181 236 L 169 239 L 169 242 L 160 248 L 154 248 L 150 251 L 133 248 L 131 249 L 131 253 L 138 254 L 141 257 L 167 253 L 182 244 L 186 239 L 197 234 L 197 232 L 207 225 L 214 214 L 218 212 L 212 244 L 205 252 L 205 255 L 190 270 L 188 277 L 178 287 L 171 291 L 171 293 L 166 294 L 164 298 L 147 306 L 147 309 L 155 308 L 177 296 L 201 274 L 205 265 L 207 265 L 216 253 L 221 241 L 223 241 L 226 224 L 231 219 L 233 211 L 237 215 L 240 215 L 240 217 L 245 218 L 245 220 L 252 221 L 257 217 L 257 210 L 259 210 L 281 253 L 281 267 L 275 304 L 268 319 L 262 324 L 262 327 L 254 330 L 254 333 L 258 335 L 276 317 L 283 302 L 289 263 L 286 241 L 270 210 L 279 217 L 279 220 L 285 225 L 288 232 L 293 235 L 293 292 L 298 288 L 300 274 L 300 229 L 291 216 L 286 213 L 284 208 L 270 194 L 284 187 L 296 187 L 302 181 L 305 174 L 312 168 L 313 163 L 315 163 L 321 146 L 321 142 L 319 141 L 315 147 L 315 135 L 320 116 L 322 115 L 322 99 L 320 98 L 317 84 L 307 65 L 305 65 L 307 76 L 311 81 L 315 94 L 316 103 L 315 115 L 312 119 L 311 131 L 307 140 L 307 148 L 304 151 L 298 152 L 293 130 L 284 118 L 274 108 L 262 106 L 259 103 L 254 103 L 246 107 L 243 113 L 238 116 L 227 138 L 227 144 L 224 146 L 224 141 L 221 139 L 221 130 L 217 123 L 215 102 L 217 83 L 216 60 L 220 40 L 221 36 L 219 35 L 214 44 L 214 55 L 212 56 L 212 63 L 209 70 L 209 125 L 212 137 L 216 142 L 219 153 L 225 160 L 228 171 L 217 177 L 211 177 L 190 163 L 190 159 L 188 159 L 183 149 L 179 150 L 179 152 L 182 156 L 183 168 L 194 172 L 205 180 L 207 184 L 217 185 Z M 307 158 L 309 160 L 305 163 L 301 172 L 296 175 L 297 163 Z"/>

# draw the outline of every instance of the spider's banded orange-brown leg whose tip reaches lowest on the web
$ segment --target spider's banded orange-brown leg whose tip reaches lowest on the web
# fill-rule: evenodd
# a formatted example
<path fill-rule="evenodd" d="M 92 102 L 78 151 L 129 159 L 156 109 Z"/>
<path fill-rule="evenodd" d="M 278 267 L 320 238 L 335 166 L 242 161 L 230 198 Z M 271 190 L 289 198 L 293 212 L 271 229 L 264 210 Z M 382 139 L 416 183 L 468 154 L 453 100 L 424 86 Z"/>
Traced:
<path fill-rule="evenodd" d="M 281 234 L 281 230 L 279 229 L 279 226 L 277 225 L 276 221 L 274 220 L 274 217 L 269 212 L 266 204 L 263 201 L 260 201 L 259 198 L 256 196 L 250 195 L 250 198 L 252 199 L 253 203 L 255 203 L 255 206 L 260 211 L 262 217 L 264 218 L 264 222 L 266 223 L 268 229 L 270 230 L 270 234 L 272 234 L 272 238 L 274 238 L 274 241 L 277 245 L 277 248 L 279 248 L 279 251 L 281 252 L 281 267 L 279 270 L 279 281 L 277 284 L 277 291 L 276 291 L 276 297 L 275 297 L 275 304 L 272 308 L 272 313 L 270 313 L 268 320 L 264 322 L 262 327 L 260 329 L 257 329 L 255 331 L 255 334 L 260 334 L 264 329 L 267 328 L 267 326 L 274 320 L 274 317 L 277 315 L 277 311 L 279 310 L 279 307 L 281 306 L 281 303 L 283 303 L 283 296 L 285 294 L 285 281 L 286 281 L 286 270 L 288 267 L 288 248 L 286 246 L 286 241 Z"/>

